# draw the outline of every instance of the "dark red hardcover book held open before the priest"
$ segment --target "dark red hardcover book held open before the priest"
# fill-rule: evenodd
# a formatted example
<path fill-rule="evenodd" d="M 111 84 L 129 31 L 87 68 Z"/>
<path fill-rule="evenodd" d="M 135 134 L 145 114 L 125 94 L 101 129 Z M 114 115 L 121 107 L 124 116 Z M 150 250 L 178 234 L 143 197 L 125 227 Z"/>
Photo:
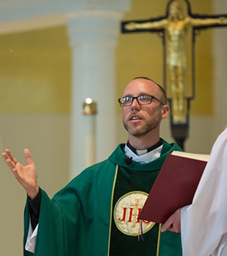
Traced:
<path fill-rule="evenodd" d="M 209 155 L 179 151 L 169 154 L 138 219 L 165 223 L 177 209 L 191 204 L 208 159 Z"/>

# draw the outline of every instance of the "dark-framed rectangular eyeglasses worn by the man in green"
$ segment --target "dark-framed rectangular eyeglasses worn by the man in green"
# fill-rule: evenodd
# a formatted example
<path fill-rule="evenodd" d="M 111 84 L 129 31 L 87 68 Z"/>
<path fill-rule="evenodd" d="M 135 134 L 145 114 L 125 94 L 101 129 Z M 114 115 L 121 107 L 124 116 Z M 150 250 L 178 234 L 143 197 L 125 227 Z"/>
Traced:
<path fill-rule="evenodd" d="M 166 104 L 162 103 L 160 100 L 158 100 L 153 95 L 140 95 L 140 96 L 136 96 L 136 97 L 126 96 L 126 97 L 122 97 L 122 98 L 118 99 L 118 102 L 119 102 L 120 106 L 131 106 L 134 99 L 137 100 L 139 105 L 151 104 L 153 99 L 157 100 L 162 105 L 166 105 Z"/>

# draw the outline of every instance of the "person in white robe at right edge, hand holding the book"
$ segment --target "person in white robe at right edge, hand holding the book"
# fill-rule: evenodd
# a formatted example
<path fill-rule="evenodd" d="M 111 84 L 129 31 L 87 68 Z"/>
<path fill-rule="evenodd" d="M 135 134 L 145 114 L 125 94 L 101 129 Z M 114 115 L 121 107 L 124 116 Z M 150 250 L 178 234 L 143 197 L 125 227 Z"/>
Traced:
<path fill-rule="evenodd" d="M 227 255 L 227 128 L 213 145 L 192 204 L 176 210 L 166 229 L 181 232 L 183 256 Z"/>

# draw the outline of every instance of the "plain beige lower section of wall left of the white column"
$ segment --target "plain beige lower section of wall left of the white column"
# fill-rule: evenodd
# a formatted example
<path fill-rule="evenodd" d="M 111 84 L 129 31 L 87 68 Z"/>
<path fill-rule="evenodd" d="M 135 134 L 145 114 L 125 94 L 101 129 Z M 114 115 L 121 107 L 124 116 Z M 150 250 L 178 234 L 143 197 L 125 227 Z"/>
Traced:
<path fill-rule="evenodd" d="M 69 115 L 0 115 L 0 147 L 10 148 L 26 164 L 23 149 L 29 148 L 38 170 L 38 180 L 50 197 L 69 180 Z M 26 193 L 0 159 L 1 248 L 4 256 L 22 256 L 23 208 Z"/>

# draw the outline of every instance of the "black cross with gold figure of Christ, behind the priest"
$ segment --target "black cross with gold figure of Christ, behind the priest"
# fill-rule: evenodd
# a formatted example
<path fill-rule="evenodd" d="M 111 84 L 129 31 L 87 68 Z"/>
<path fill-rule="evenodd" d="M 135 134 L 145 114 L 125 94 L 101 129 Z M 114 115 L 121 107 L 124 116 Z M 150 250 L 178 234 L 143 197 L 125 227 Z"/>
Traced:
<path fill-rule="evenodd" d="M 207 27 L 227 26 L 227 14 L 191 14 L 188 0 L 170 0 L 166 16 L 150 20 L 123 21 L 122 33 L 158 33 L 163 39 L 163 85 L 171 108 L 170 122 L 173 137 L 182 149 L 188 137 L 190 101 L 194 99 L 194 42 L 195 36 Z M 191 33 L 190 33 L 191 31 Z M 190 35 L 188 35 L 190 33 Z M 191 61 L 188 61 L 188 36 L 191 36 Z M 189 47 L 190 49 L 190 47 Z M 188 65 L 188 63 L 190 65 Z M 189 68 L 190 66 L 190 68 Z M 191 78 L 188 71 L 191 69 Z M 190 83 L 191 95 L 185 95 Z"/>

